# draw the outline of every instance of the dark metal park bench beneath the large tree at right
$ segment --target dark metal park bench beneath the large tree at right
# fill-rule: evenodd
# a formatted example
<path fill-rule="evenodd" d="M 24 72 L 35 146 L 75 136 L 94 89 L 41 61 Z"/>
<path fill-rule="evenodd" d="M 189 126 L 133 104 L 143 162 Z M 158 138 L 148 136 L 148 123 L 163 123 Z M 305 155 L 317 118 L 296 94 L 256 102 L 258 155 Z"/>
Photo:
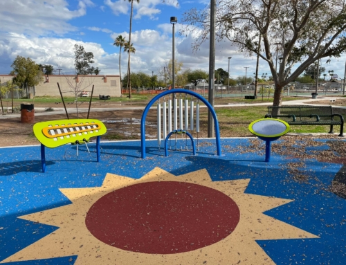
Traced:
<path fill-rule="evenodd" d="M 339 136 L 344 136 L 344 118 L 341 114 L 334 113 L 331 106 L 268 106 L 265 118 L 284 120 L 289 125 L 330 125 L 329 134 L 334 134 L 334 125 L 340 125 Z"/>

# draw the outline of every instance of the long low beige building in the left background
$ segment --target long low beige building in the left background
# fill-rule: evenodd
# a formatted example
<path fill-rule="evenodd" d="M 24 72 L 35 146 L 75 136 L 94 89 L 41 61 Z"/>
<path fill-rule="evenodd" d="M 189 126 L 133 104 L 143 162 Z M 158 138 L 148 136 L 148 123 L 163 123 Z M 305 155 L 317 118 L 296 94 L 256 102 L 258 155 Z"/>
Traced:
<path fill-rule="evenodd" d="M 8 82 L 12 77 L 13 75 L 0 75 L 0 83 Z M 28 88 L 28 93 L 35 96 L 60 96 L 57 83 L 64 96 L 73 97 L 75 92 L 78 96 L 82 96 L 83 92 L 84 95 L 91 95 L 92 89 L 93 96 L 121 96 L 119 75 L 43 75 L 43 81 L 35 87 Z"/>

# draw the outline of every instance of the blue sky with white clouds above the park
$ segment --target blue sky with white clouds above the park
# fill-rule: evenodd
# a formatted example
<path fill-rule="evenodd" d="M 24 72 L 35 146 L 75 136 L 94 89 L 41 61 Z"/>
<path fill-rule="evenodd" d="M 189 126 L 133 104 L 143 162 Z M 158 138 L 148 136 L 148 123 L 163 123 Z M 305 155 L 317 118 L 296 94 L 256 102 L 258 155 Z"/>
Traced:
<path fill-rule="evenodd" d="M 208 0 L 140 0 L 134 2 L 131 42 L 131 71 L 159 75 L 172 59 L 172 24 L 175 27 L 175 58 L 183 69 L 202 69 L 208 73 L 209 42 L 192 51 L 193 33 L 179 34 L 183 13 L 191 8 L 204 8 Z M 51 64 L 60 73 L 73 73 L 75 44 L 94 55 L 94 67 L 100 75 L 119 74 L 119 50 L 113 42 L 129 36 L 131 6 L 128 0 L 1 0 L 0 1 L 0 74 L 8 74 L 17 55 L 30 57 L 37 64 Z M 216 43 L 215 68 L 224 68 L 230 76 L 253 76 L 256 57 L 237 53 L 229 41 Z M 228 60 L 228 57 L 232 57 Z M 334 70 L 339 77 L 345 71 L 346 55 L 332 58 L 322 66 Z M 245 68 L 248 67 L 248 68 Z M 260 60 L 259 75 L 271 75 L 268 65 Z M 127 54 L 121 53 L 122 76 L 127 71 Z M 55 74 L 59 72 L 56 71 Z"/>

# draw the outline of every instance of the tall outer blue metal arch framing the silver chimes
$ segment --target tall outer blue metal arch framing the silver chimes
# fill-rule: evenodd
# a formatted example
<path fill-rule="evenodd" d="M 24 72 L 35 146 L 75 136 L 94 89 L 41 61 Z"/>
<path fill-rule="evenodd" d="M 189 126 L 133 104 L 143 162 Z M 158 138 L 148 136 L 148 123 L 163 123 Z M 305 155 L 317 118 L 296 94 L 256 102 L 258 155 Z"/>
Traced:
<path fill-rule="evenodd" d="M 172 90 L 167 90 L 167 91 L 164 91 L 163 93 L 156 95 L 152 100 L 150 100 L 150 102 L 147 104 L 147 107 L 145 107 L 145 109 L 143 111 L 142 119 L 140 120 L 140 149 L 142 152 L 142 158 L 145 158 L 145 119 L 147 118 L 147 113 L 148 113 L 150 107 L 152 107 L 152 105 L 154 104 L 154 102 L 156 102 L 156 100 L 158 100 L 159 98 L 162 98 L 165 95 L 169 95 L 172 93 L 185 93 L 185 94 L 193 95 L 194 97 L 201 100 L 201 102 L 206 104 L 206 106 L 210 110 L 210 113 L 212 113 L 212 118 L 214 118 L 217 155 L 221 156 L 219 121 L 217 120 L 217 115 L 216 115 L 214 109 L 212 108 L 212 105 L 210 105 L 210 103 L 205 98 L 203 98 L 201 95 L 197 94 L 196 92 L 193 92 L 190 90 L 185 90 L 185 89 L 172 89 Z"/>

